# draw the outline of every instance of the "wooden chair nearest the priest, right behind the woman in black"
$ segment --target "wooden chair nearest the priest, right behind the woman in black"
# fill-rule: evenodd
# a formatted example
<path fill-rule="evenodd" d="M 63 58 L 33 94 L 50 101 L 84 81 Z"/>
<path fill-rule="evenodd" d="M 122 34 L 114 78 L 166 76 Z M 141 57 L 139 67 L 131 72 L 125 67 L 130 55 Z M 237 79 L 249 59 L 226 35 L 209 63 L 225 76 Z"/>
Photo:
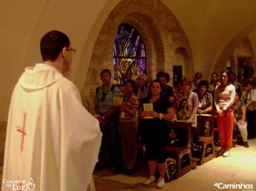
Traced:
<path fill-rule="evenodd" d="M 179 128 L 185 129 L 187 135 L 187 142 L 185 146 L 175 146 L 170 145 L 166 146 L 166 151 L 177 154 L 177 173 L 176 179 L 185 173 L 189 172 L 193 169 L 193 162 L 192 162 L 192 154 L 191 154 L 191 124 L 186 124 L 186 122 L 176 122 L 172 123 L 169 120 L 166 120 L 167 127 L 170 128 Z M 184 158 L 188 156 L 188 165 L 183 167 L 182 161 Z"/>

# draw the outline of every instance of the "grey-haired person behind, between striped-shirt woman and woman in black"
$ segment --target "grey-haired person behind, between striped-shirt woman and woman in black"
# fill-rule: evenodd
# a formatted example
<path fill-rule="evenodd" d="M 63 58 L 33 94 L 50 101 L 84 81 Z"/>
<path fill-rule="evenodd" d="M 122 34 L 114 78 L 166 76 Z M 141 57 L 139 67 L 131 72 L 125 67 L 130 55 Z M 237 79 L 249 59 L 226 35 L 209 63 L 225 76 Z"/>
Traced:
<path fill-rule="evenodd" d="M 137 84 L 133 93 L 139 98 L 139 100 L 144 97 L 148 97 L 149 95 L 149 89 L 145 86 L 146 80 L 147 77 L 143 73 L 140 73 L 137 77 Z"/>

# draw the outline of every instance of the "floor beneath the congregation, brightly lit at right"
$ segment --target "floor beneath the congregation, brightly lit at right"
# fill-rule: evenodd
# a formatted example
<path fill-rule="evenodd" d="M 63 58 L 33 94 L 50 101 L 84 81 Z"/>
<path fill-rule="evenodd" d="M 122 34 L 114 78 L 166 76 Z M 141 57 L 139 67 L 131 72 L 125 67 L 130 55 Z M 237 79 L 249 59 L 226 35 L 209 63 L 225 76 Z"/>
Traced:
<path fill-rule="evenodd" d="M 166 183 L 161 190 L 219 190 L 213 186 L 215 183 L 253 184 L 256 190 L 256 139 L 248 143 L 250 148 L 236 145 L 231 149 L 230 157 L 214 158 L 197 166 L 182 177 Z M 112 168 L 93 173 L 96 190 L 159 190 L 156 184 L 142 184 L 148 176 L 147 163 L 141 164 L 138 172 L 130 176 L 115 175 Z"/>

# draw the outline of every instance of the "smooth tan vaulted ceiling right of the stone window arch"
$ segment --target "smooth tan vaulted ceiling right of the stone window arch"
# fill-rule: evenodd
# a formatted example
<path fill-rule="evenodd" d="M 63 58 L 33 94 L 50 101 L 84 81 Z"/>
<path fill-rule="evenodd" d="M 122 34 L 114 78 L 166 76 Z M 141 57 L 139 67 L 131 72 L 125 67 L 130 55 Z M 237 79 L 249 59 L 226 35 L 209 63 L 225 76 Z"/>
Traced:
<path fill-rule="evenodd" d="M 256 1 L 254 0 L 163 0 L 163 2 L 176 15 L 189 39 L 195 71 L 201 70 L 207 74 L 206 70 L 209 71 L 209 68 L 202 68 L 202 64 L 205 64 L 212 66 L 214 72 L 219 72 L 246 36 L 249 36 L 255 47 Z"/>

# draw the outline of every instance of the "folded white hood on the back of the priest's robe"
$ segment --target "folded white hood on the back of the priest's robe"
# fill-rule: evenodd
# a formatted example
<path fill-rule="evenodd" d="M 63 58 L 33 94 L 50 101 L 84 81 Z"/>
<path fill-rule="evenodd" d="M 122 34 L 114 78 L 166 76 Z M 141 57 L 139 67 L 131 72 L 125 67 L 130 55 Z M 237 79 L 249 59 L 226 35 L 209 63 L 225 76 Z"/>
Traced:
<path fill-rule="evenodd" d="M 63 75 L 56 68 L 45 64 L 36 64 L 35 67 L 25 68 L 18 84 L 23 88 L 36 90 L 49 86 L 60 78 L 63 78 Z"/>

